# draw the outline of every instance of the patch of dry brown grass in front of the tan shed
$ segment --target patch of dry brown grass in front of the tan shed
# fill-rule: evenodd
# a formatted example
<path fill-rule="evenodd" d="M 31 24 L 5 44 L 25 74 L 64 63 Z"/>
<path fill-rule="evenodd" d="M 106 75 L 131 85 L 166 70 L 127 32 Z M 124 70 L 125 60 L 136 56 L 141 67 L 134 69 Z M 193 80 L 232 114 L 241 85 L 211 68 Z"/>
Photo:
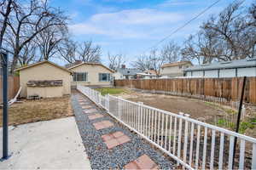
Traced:
<path fill-rule="evenodd" d="M 47 121 L 51 119 L 73 116 L 70 97 L 22 100 L 9 108 L 9 125 L 19 125 L 27 122 Z M 0 111 L 0 126 L 3 113 Z"/>

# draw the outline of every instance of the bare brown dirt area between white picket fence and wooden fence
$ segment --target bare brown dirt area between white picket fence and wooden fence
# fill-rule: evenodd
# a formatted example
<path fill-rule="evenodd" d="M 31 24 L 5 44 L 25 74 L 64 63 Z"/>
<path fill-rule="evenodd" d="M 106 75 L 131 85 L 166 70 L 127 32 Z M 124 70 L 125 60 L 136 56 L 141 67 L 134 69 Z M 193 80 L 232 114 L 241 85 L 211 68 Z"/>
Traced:
<path fill-rule="evenodd" d="M 135 91 L 132 91 L 131 94 L 119 94 L 119 96 L 131 101 L 143 102 L 144 105 L 171 111 L 175 114 L 183 112 L 202 122 L 212 122 L 215 116 L 225 114 L 224 110 L 208 105 L 207 102 L 198 99 L 163 94 L 144 94 Z"/>

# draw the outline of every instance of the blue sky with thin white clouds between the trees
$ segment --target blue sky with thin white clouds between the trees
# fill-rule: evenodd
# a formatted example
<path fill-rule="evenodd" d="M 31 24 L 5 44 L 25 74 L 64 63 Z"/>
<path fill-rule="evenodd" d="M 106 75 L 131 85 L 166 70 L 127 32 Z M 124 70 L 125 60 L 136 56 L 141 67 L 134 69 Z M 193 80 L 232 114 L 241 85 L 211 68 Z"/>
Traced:
<path fill-rule="evenodd" d="M 124 54 L 126 64 L 154 47 L 162 38 L 215 0 L 50 0 L 50 5 L 66 11 L 69 29 L 75 41 L 92 41 L 102 47 L 102 63 L 108 64 L 110 54 Z M 201 23 L 217 15 L 234 0 L 222 0 L 200 18 L 178 31 L 165 42 L 182 46 Z M 244 5 L 253 3 L 245 1 Z M 63 61 L 61 63 L 64 64 Z"/>

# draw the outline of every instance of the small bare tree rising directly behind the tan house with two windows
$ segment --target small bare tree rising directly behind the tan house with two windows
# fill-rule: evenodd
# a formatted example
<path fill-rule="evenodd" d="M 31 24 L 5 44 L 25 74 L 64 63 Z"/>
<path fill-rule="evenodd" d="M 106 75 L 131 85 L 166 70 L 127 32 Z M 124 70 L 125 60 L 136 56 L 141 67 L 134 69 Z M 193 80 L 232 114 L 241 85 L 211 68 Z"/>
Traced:
<path fill-rule="evenodd" d="M 101 62 L 102 48 L 99 45 L 93 46 L 91 41 L 82 42 L 77 48 L 77 60 L 84 62 Z"/>

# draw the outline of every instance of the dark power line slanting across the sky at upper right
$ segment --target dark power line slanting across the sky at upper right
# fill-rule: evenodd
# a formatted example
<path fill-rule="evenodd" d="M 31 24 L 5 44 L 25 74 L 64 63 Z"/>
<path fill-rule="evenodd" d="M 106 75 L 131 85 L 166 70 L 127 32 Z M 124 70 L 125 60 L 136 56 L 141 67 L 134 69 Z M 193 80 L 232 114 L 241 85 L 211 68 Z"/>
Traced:
<path fill-rule="evenodd" d="M 183 27 L 187 26 L 190 24 L 190 22 L 192 22 L 193 20 L 197 19 L 198 17 L 201 16 L 201 14 L 204 14 L 205 12 L 207 12 L 207 10 L 209 10 L 210 8 L 212 8 L 215 4 L 217 4 L 218 2 L 220 2 L 221 0 L 216 1 L 215 3 L 212 3 L 210 6 L 208 6 L 207 8 L 205 8 L 203 11 L 201 11 L 201 13 L 195 15 L 194 18 L 192 18 L 191 20 L 189 20 L 188 22 L 186 22 L 185 24 L 183 24 L 183 26 L 178 27 L 176 30 L 172 31 L 171 34 L 169 34 L 168 36 L 164 37 L 163 39 L 161 39 L 159 42 L 155 43 L 152 47 L 148 48 L 154 48 L 157 47 L 161 42 L 166 41 L 166 39 L 168 39 L 169 37 L 172 37 L 173 34 L 175 34 L 177 31 L 183 29 Z"/>

